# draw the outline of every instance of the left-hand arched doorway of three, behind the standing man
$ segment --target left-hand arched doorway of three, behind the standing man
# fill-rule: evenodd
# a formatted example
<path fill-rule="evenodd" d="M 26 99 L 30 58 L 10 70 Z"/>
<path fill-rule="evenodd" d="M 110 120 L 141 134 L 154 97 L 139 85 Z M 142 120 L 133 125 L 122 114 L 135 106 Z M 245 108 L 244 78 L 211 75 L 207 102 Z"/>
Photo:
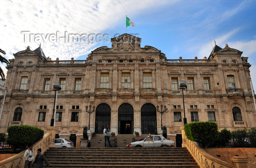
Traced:
<path fill-rule="evenodd" d="M 104 127 L 109 125 L 111 119 L 111 108 L 108 104 L 102 103 L 95 110 L 95 133 L 103 134 Z"/>

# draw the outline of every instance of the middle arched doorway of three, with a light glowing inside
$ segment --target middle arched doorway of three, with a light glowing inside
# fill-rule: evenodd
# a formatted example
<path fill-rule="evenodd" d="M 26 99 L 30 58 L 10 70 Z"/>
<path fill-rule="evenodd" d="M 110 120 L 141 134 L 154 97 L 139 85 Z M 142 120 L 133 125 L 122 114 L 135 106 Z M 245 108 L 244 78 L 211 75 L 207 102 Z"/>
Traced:
<path fill-rule="evenodd" d="M 118 108 L 118 134 L 133 133 L 133 107 L 124 103 Z"/>

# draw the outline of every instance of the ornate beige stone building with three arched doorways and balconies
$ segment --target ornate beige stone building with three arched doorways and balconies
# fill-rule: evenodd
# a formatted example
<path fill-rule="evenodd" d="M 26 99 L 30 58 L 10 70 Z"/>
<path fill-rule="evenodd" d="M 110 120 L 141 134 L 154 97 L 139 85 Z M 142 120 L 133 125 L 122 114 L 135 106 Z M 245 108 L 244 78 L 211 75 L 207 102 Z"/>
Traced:
<path fill-rule="evenodd" d="M 249 67 L 242 52 L 215 44 L 204 59 L 166 59 L 141 38 L 123 34 L 112 47 L 99 47 L 86 60 L 52 61 L 41 47 L 27 47 L 7 65 L 7 94 L 0 132 L 11 125 L 37 126 L 46 131 L 53 115 L 53 83 L 59 82 L 55 126 L 63 138 L 81 138 L 83 127 L 102 134 L 105 125 L 117 134 L 181 134 L 187 122 L 213 121 L 219 129 L 256 127 Z M 185 116 L 182 90 L 184 80 Z M 86 106 L 95 111 L 86 112 Z M 163 105 L 161 109 L 161 105 Z M 161 112 L 166 110 L 162 115 Z M 166 107 L 165 107 L 166 106 Z M 166 108 L 166 109 L 165 109 Z M 161 119 L 162 117 L 162 119 Z"/>

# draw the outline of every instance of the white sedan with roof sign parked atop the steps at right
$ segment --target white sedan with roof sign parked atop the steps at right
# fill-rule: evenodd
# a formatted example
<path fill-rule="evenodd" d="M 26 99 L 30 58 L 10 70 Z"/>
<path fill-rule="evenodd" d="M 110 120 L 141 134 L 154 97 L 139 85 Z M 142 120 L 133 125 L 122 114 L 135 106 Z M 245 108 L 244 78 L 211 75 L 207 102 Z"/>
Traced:
<path fill-rule="evenodd" d="M 173 147 L 174 141 L 166 140 L 162 135 L 151 135 L 146 137 L 142 141 L 132 142 L 131 147 Z"/>

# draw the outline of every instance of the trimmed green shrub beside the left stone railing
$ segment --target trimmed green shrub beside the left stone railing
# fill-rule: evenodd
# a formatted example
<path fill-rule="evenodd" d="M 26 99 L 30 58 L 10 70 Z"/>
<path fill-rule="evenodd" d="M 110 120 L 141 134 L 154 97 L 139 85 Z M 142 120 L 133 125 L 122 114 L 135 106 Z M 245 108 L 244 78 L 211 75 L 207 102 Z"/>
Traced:
<path fill-rule="evenodd" d="M 7 128 L 7 132 L 7 143 L 13 145 L 14 150 L 25 149 L 29 144 L 44 137 L 44 130 L 28 125 L 10 126 Z"/>

